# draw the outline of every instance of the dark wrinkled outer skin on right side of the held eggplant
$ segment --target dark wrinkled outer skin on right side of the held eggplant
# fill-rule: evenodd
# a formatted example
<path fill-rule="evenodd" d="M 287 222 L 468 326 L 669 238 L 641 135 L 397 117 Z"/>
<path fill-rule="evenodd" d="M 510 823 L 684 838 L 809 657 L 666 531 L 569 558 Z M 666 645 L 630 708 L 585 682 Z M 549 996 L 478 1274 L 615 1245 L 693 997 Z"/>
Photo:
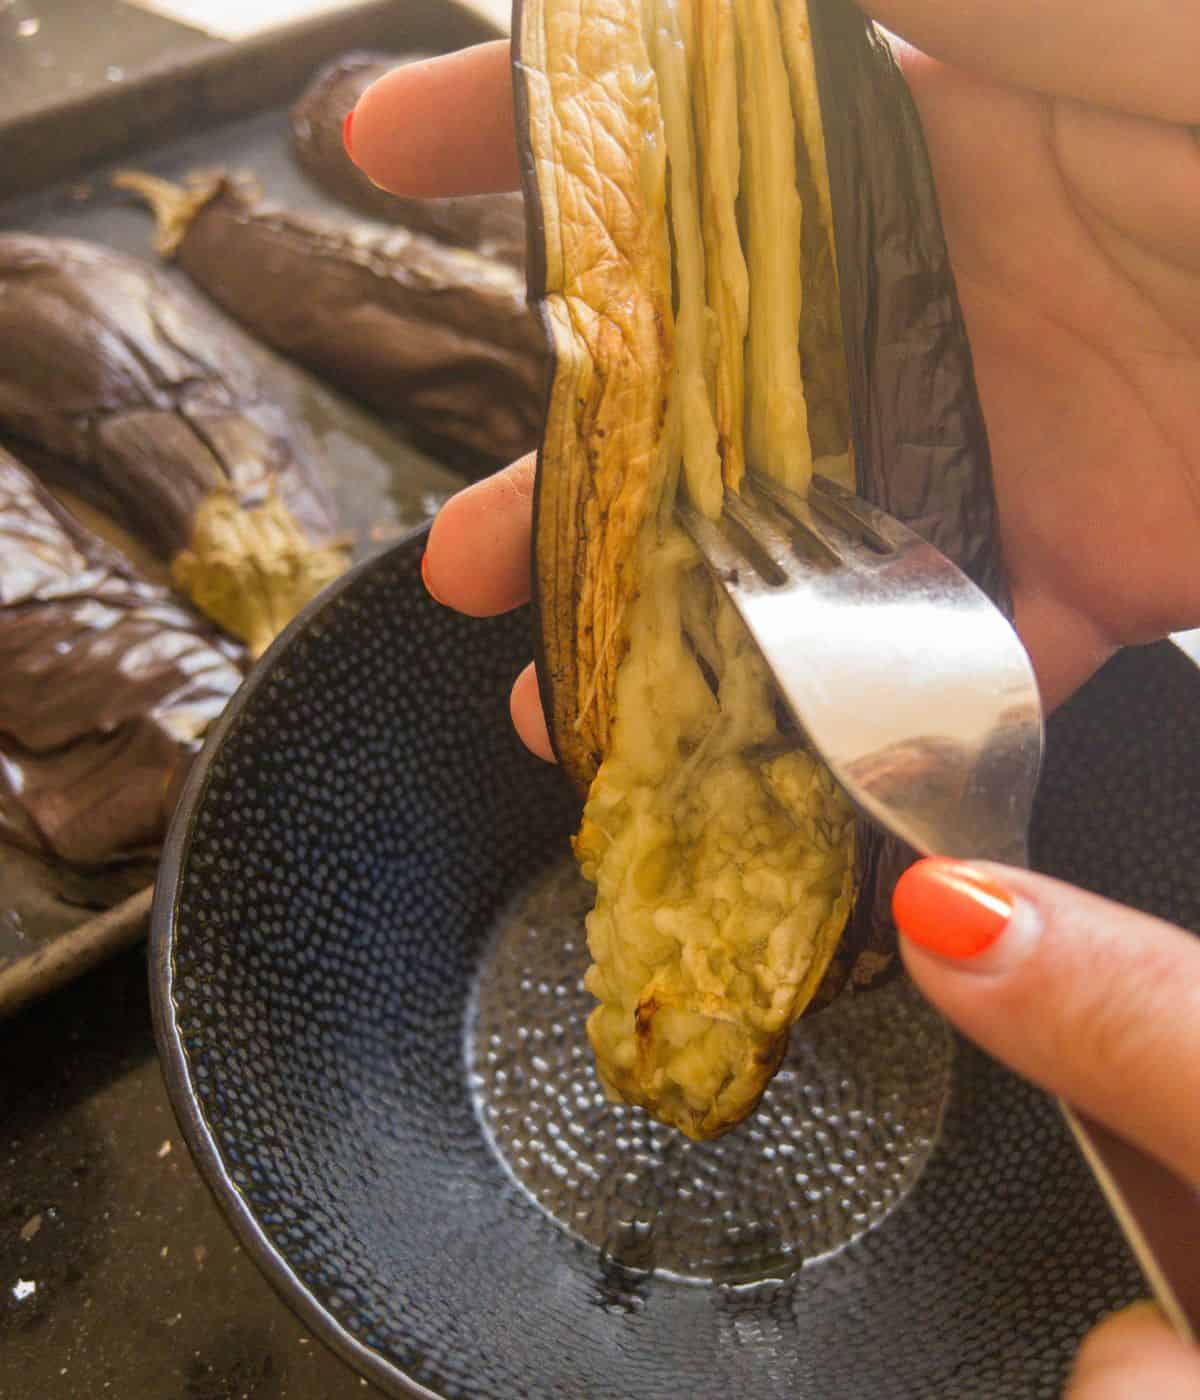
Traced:
<path fill-rule="evenodd" d="M 808 0 L 829 161 L 858 490 L 1010 610 L 987 428 L 920 118 L 882 35 Z M 836 113 L 836 115 L 833 115 Z M 822 997 L 898 970 L 892 889 L 913 853 L 858 827 L 860 896 Z"/>

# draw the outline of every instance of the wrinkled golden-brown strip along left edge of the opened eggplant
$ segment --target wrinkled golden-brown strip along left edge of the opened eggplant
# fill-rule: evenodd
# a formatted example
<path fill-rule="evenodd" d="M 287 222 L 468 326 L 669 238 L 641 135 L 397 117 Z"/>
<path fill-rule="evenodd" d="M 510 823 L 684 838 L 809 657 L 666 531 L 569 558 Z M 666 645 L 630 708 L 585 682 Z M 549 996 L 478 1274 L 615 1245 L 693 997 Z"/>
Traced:
<path fill-rule="evenodd" d="M 639 6 L 609 6 L 608 24 L 575 13 L 601 6 L 563 14 L 563 28 L 577 24 L 588 46 L 584 81 L 553 8 L 535 0 L 514 15 L 529 294 L 553 365 L 533 501 L 533 594 L 550 735 L 587 792 L 611 739 L 637 587 L 634 545 L 665 491 L 675 321 L 667 153 Z M 604 71 L 613 74 L 611 91 L 596 77 Z M 573 158 L 578 151 L 596 158 Z"/>

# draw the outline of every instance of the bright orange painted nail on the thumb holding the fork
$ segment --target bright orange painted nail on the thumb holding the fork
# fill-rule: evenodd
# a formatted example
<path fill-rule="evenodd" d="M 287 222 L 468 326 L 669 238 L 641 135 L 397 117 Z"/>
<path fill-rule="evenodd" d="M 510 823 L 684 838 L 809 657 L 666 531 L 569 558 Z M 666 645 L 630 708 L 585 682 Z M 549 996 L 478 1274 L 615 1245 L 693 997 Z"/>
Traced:
<path fill-rule="evenodd" d="M 1032 948 L 1036 909 L 963 861 L 933 855 L 909 867 L 892 895 L 910 942 L 972 972 L 1001 972 Z"/>

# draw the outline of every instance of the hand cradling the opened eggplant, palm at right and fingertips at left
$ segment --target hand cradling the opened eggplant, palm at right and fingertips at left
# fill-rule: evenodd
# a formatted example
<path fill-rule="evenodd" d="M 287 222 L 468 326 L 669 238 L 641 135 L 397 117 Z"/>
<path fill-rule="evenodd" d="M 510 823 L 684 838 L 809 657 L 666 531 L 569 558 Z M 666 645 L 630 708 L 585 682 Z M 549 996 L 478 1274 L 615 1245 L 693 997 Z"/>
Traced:
<path fill-rule="evenodd" d="M 921 112 L 991 437 L 1018 631 L 1047 708 L 1119 645 L 1200 623 L 1200 11 L 1155 0 L 871 0 Z M 933 57 L 931 55 L 937 55 Z M 405 140 L 396 140 L 405 132 Z M 353 155 L 388 189 L 515 188 L 508 49 L 375 84 Z M 524 601 L 532 465 L 434 525 L 427 577 Z M 512 697 L 549 756 L 532 672 Z"/>

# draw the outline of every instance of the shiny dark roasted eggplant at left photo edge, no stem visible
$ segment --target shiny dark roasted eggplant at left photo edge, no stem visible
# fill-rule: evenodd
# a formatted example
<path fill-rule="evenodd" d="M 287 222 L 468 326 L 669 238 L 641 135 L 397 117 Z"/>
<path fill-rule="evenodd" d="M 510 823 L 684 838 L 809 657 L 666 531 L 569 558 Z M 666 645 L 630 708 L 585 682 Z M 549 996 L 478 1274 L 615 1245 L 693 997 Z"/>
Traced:
<path fill-rule="evenodd" d="M 245 664 L 0 449 L 0 839 L 77 867 L 153 851 Z"/>

